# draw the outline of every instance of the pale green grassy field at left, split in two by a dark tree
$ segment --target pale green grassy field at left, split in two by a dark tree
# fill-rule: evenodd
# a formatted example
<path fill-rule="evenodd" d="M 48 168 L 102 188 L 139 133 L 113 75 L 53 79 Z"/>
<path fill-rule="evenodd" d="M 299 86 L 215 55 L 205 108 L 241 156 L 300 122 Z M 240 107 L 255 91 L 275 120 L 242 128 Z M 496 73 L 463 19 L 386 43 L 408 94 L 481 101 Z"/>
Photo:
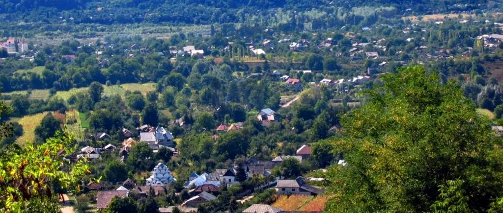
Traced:
<path fill-rule="evenodd" d="M 124 93 L 126 91 L 140 91 L 143 95 L 147 94 L 147 92 L 155 90 L 155 83 L 146 83 L 146 84 L 121 84 L 120 86 L 112 85 L 112 86 L 104 86 L 104 95 L 120 95 L 124 98 Z M 79 92 L 88 91 L 87 87 L 81 88 L 73 88 L 69 91 L 58 91 L 55 97 L 62 98 L 63 100 L 68 100 L 70 96 L 75 95 Z"/>

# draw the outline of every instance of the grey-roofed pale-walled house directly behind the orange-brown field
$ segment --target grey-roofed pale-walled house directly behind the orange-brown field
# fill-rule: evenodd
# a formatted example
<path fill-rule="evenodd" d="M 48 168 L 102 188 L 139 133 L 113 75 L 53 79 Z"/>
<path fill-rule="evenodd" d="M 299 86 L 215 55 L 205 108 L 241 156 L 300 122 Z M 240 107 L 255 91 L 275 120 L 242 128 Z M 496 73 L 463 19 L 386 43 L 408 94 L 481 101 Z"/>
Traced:
<path fill-rule="evenodd" d="M 302 177 L 297 177 L 295 180 L 278 180 L 276 190 L 278 194 L 318 195 L 323 193 L 322 189 L 305 183 Z"/>

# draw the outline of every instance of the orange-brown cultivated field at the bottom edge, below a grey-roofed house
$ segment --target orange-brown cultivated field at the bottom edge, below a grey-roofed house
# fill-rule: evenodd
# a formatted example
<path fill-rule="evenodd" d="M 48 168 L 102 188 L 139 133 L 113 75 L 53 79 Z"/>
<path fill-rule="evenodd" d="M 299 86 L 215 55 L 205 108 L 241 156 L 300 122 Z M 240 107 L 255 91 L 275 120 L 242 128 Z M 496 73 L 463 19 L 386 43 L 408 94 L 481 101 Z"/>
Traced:
<path fill-rule="evenodd" d="M 286 211 L 322 211 L 327 199 L 326 196 L 281 195 L 272 205 Z"/>

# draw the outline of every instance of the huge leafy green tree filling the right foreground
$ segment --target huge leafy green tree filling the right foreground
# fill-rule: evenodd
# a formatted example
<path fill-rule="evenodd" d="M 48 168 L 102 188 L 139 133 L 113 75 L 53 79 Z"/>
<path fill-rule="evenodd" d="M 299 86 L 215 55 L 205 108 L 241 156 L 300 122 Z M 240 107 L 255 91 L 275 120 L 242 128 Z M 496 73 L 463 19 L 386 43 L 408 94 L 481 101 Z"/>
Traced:
<path fill-rule="evenodd" d="M 455 82 L 421 67 L 381 76 L 330 140 L 346 166 L 327 172 L 327 211 L 487 211 L 503 195 L 501 142 Z M 446 210 L 447 209 L 447 210 Z"/>

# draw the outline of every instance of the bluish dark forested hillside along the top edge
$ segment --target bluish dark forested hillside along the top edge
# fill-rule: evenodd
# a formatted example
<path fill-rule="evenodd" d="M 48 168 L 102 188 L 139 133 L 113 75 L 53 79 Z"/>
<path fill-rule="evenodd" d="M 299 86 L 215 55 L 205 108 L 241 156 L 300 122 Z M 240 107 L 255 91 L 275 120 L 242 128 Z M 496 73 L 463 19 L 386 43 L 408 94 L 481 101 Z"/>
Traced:
<path fill-rule="evenodd" d="M 458 5 L 457 5 L 458 4 Z M 460 5 L 459 5 L 460 4 Z M 278 10 L 304 12 L 323 11 L 341 14 L 358 7 L 389 7 L 386 15 L 442 13 L 447 11 L 483 10 L 485 0 L 471 1 L 328 1 L 328 0 L 259 0 L 259 1 L 174 1 L 174 0 L 2 0 L 0 13 L 6 21 L 48 22 L 51 19 L 72 18 L 75 23 L 157 23 L 178 24 L 237 23 L 249 16 L 274 15 Z M 487 7 L 494 9 L 494 7 Z M 353 11 L 354 12 L 354 11 Z"/>

